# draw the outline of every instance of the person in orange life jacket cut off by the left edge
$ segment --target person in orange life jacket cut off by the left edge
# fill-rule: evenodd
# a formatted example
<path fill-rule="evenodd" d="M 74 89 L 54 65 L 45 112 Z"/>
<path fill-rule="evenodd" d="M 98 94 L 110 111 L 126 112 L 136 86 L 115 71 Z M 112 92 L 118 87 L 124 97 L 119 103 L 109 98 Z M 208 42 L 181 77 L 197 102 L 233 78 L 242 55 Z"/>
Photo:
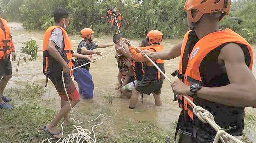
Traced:
<path fill-rule="evenodd" d="M 0 18 L 0 109 L 12 109 L 12 106 L 6 103 L 12 99 L 4 96 L 4 89 L 8 81 L 12 78 L 10 54 L 12 54 L 12 61 L 15 61 L 16 53 L 12 43 L 10 28 L 7 21 L 4 18 Z"/>

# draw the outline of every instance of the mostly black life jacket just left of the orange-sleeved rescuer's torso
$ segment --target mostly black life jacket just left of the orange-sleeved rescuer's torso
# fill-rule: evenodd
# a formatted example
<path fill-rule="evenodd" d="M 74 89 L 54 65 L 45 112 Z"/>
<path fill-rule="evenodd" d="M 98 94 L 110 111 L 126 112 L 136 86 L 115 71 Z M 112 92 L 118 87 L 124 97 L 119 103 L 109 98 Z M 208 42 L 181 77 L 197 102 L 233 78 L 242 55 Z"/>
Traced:
<path fill-rule="evenodd" d="M 142 62 L 137 62 L 137 61 L 132 61 L 132 71 L 133 71 L 133 77 L 135 80 L 142 80 L 143 77 L 143 63 Z"/>

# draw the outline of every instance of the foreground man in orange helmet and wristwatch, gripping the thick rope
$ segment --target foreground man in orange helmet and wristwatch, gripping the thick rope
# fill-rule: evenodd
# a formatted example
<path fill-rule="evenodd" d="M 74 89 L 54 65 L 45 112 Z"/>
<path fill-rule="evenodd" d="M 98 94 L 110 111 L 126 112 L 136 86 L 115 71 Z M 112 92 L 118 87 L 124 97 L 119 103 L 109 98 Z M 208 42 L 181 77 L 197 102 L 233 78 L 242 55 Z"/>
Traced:
<path fill-rule="evenodd" d="M 244 130 L 244 107 L 256 107 L 252 48 L 239 34 L 219 29 L 230 4 L 231 0 L 187 0 L 184 9 L 191 30 L 183 42 L 170 51 L 143 53 L 165 60 L 180 56 L 179 69 L 172 74 L 179 80 L 171 85 L 182 109 L 176 130 L 179 143 L 212 143 L 216 135 L 181 95 L 210 111 L 220 127 L 237 137 Z"/>

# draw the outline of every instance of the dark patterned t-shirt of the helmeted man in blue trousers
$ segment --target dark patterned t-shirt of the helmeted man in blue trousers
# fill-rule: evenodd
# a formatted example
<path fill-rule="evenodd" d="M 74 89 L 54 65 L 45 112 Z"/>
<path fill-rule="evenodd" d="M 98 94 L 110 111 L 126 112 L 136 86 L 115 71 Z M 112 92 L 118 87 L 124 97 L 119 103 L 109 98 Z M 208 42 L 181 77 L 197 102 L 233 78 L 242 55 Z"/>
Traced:
<path fill-rule="evenodd" d="M 98 46 L 98 44 L 93 42 L 93 41 L 91 41 L 90 43 L 87 43 L 85 40 L 82 40 L 78 45 L 77 53 L 82 54 L 81 53 L 82 48 L 86 48 L 87 50 L 93 51 L 95 48 L 97 48 L 97 46 Z M 74 64 L 75 64 L 76 67 L 78 67 L 78 66 L 81 66 L 81 65 L 83 65 L 87 62 L 89 62 L 87 59 L 76 58 Z M 82 68 L 89 70 L 90 64 L 85 65 Z"/>

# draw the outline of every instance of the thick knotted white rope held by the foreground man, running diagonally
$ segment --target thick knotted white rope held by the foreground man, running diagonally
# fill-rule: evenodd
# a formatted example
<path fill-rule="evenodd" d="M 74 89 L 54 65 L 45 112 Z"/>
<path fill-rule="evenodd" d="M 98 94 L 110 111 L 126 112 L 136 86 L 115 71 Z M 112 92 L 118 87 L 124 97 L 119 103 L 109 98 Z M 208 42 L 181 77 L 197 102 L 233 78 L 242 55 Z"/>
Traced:
<path fill-rule="evenodd" d="M 135 47 L 137 50 L 142 52 L 138 47 L 134 46 L 130 42 L 128 42 L 131 46 Z M 161 72 L 161 74 L 168 80 L 168 82 L 171 83 L 171 80 L 167 75 L 164 74 L 164 72 L 145 54 L 145 57 Z M 214 116 L 207 110 L 203 109 L 200 106 L 196 106 L 194 102 L 192 102 L 188 97 L 182 95 L 190 104 L 194 106 L 193 112 L 196 115 L 196 117 L 199 118 L 199 120 L 205 124 L 209 124 L 212 126 L 212 128 L 217 132 L 213 143 L 218 143 L 219 140 L 222 143 L 226 143 L 224 139 L 229 138 L 230 140 L 234 141 L 235 143 L 244 143 L 240 141 L 239 139 L 235 138 L 234 136 L 228 134 L 226 131 L 224 131 L 218 124 L 215 123 L 214 121 Z"/>

